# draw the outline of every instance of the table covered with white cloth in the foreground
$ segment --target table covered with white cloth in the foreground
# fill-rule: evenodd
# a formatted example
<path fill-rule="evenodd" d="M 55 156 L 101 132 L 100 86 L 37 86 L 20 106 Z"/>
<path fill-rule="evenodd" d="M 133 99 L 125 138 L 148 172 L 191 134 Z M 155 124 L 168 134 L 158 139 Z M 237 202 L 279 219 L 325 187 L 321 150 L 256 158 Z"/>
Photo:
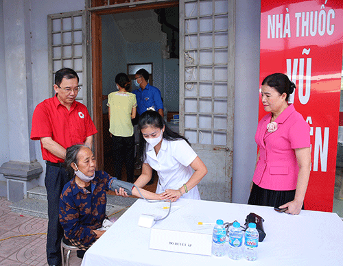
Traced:
<path fill-rule="evenodd" d="M 82 266 L 94 265 L 343 265 L 343 221 L 335 213 L 302 210 L 300 215 L 276 213 L 273 208 L 224 202 L 179 199 L 183 205 L 153 228 L 193 232 L 189 219 L 215 223 L 216 219 L 245 223 L 246 215 L 256 213 L 265 219 L 267 234 L 259 243 L 258 260 L 233 261 L 194 254 L 150 250 L 150 228 L 138 226 L 142 213 L 154 213 L 156 204 L 137 200 L 108 231 L 91 246 Z M 172 207 L 173 210 L 173 207 Z M 198 232 L 211 233 L 212 229 Z"/>

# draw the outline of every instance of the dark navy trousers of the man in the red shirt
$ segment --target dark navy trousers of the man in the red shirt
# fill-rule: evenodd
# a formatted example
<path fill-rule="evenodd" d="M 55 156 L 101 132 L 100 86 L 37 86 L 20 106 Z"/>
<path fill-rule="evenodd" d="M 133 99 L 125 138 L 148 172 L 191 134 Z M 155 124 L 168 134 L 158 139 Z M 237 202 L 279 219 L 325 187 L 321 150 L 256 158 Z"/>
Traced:
<path fill-rule="evenodd" d="M 60 225 L 60 195 L 64 184 L 69 182 L 68 172 L 64 167 L 47 164 L 45 173 L 45 187 L 47 188 L 47 263 L 60 265 L 62 262 L 61 239 L 63 228 Z"/>

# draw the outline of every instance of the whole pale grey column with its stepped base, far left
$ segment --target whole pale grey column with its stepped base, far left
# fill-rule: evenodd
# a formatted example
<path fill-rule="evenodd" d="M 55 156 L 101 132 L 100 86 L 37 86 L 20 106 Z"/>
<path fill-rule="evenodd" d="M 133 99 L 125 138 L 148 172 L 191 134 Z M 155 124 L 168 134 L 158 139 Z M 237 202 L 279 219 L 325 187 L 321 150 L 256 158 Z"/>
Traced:
<path fill-rule="evenodd" d="M 2 115 L 7 118 L 9 161 L 3 162 L 0 173 L 7 180 L 8 199 L 17 201 L 36 186 L 36 178 L 43 171 L 36 162 L 34 143 L 29 141 L 34 110 L 31 10 L 29 0 L 1 2 L 5 47 L 5 98 L 2 103 L 7 104 L 7 112 Z"/>

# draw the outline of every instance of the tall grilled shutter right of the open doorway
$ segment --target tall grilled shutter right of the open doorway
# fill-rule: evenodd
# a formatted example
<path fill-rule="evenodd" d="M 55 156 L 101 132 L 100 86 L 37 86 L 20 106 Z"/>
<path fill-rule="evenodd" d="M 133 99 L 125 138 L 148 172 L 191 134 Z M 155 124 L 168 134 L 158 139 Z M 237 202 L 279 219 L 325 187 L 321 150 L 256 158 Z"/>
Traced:
<path fill-rule="evenodd" d="M 185 56 L 180 60 L 180 132 L 202 147 L 228 149 L 232 138 L 228 134 L 233 131 L 228 5 L 227 0 L 180 3 L 180 50 Z"/>

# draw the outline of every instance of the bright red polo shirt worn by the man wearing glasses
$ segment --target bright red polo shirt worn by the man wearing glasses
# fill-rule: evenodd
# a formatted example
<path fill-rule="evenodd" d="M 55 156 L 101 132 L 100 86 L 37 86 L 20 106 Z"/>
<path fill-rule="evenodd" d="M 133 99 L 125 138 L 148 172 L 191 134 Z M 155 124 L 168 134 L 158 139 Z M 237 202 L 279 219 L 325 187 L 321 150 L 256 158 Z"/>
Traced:
<path fill-rule="evenodd" d="M 78 101 L 74 101 L 68 110 L 58 101 L 56 94 L 55 97 L 42 101 L 34 110 L 30 136 L 33 141 L 50 136 L 53 141 L 67 149 L 72 145 L 84 143 L 87 136 L 95 133 L 97 129 L 86 106 Z M 42 142 L 40 147 L 44 160 L 64 162 L 43 148 Z"/>

